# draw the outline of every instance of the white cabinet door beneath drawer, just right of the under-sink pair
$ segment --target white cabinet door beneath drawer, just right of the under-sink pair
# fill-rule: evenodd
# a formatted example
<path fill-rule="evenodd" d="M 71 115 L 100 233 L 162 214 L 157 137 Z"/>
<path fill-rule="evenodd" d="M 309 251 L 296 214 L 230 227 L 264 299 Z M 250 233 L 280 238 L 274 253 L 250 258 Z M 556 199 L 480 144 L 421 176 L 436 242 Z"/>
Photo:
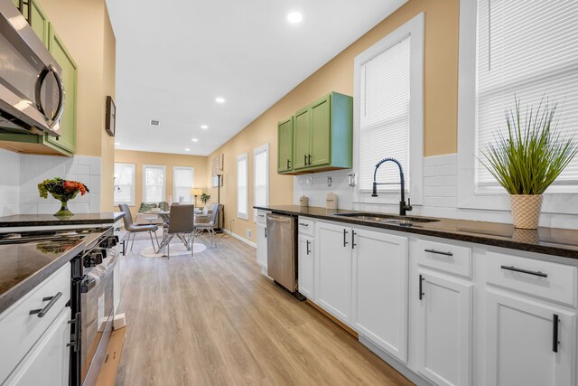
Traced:
<path fill-rule="evenodd" d="M 418 270 L 417 371 L 436 385 L 471 384 L 471 283 Z"/>

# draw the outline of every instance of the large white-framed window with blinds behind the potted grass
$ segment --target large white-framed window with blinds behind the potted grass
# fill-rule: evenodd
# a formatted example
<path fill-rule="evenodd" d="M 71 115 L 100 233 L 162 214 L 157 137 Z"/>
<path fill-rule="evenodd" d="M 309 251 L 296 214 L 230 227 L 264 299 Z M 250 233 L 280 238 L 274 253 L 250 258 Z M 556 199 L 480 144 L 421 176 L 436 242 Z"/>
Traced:
<path fill-rule="evenodd" d="M 460 12 L 458 203 L 497 209 L 501 200 L 500 209 L 508 209 L 504 189 L 479 161 L 480 148 L 507 133 L 506 110 L 515 110 L 516 98 L 522 119 L 540 102 L 556 105 L 563 135 L 578 134 L 578 2 L 461 0 Z M 546 191 L 575 192 L 578 157 Z"/>

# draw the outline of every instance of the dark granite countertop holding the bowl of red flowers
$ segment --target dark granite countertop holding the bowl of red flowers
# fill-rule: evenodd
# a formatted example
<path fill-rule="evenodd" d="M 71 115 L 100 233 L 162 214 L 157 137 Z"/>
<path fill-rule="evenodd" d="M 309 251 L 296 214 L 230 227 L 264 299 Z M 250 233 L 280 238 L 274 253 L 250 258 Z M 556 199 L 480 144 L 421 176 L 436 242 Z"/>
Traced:
<path fill-rule="evenodd" d="M 0 231 L 8 227 L 106 224 L 116 222 L 122 216 L 123 212 L 79 213 L 60 219 L 51 214 L 14 214 L 0 217 Z"/>

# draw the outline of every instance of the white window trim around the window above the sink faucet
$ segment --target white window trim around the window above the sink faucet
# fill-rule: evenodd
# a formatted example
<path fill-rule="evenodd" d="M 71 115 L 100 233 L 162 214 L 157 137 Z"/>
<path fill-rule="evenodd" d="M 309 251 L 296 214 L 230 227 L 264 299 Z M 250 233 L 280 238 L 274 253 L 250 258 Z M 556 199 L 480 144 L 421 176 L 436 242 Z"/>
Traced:
<path fill-rule="evenodd" d="M 411 36 L 410 42 L 410 116 L 409 116 L 409 162 L 412 204 L 423 202 L 423 169 L 424 169 L 424 13 L 417 14 L 396 31 L 375 43 L 365 52 L 360 53 L 354 61 L 354 103 L 353 103 L 353 172 L 359 174 L 359 134 L 360 134 L 360 89 L 361 66 L 386 51 L 389 47 Z M 384 155 L 387 157 L 387 155 Z M 399 192 L 382 192 L 377 199 L 368 192 L 356 189 L 356 202 L 397 203 Z"/>

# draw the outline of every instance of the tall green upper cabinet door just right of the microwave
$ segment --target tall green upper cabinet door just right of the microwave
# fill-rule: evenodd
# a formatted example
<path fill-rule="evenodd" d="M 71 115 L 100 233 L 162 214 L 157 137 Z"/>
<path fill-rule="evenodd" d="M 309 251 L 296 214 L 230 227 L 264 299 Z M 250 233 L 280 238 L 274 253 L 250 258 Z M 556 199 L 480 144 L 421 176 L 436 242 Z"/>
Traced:
<path fill-rule="evenodd" d="M 54 32 L 52 24 L 49 28 L 48 49 L 62 68 L 62 84 L 64 85 L 64 111 L 61 116 L 61 126 L 58 132 L 61 137 L 46 136 L 46 140 L 64 151 L 74 154 L 76 150 L 76 93 L 77 70 L 76 62 L 66 50 L 61 38 Z"/>

